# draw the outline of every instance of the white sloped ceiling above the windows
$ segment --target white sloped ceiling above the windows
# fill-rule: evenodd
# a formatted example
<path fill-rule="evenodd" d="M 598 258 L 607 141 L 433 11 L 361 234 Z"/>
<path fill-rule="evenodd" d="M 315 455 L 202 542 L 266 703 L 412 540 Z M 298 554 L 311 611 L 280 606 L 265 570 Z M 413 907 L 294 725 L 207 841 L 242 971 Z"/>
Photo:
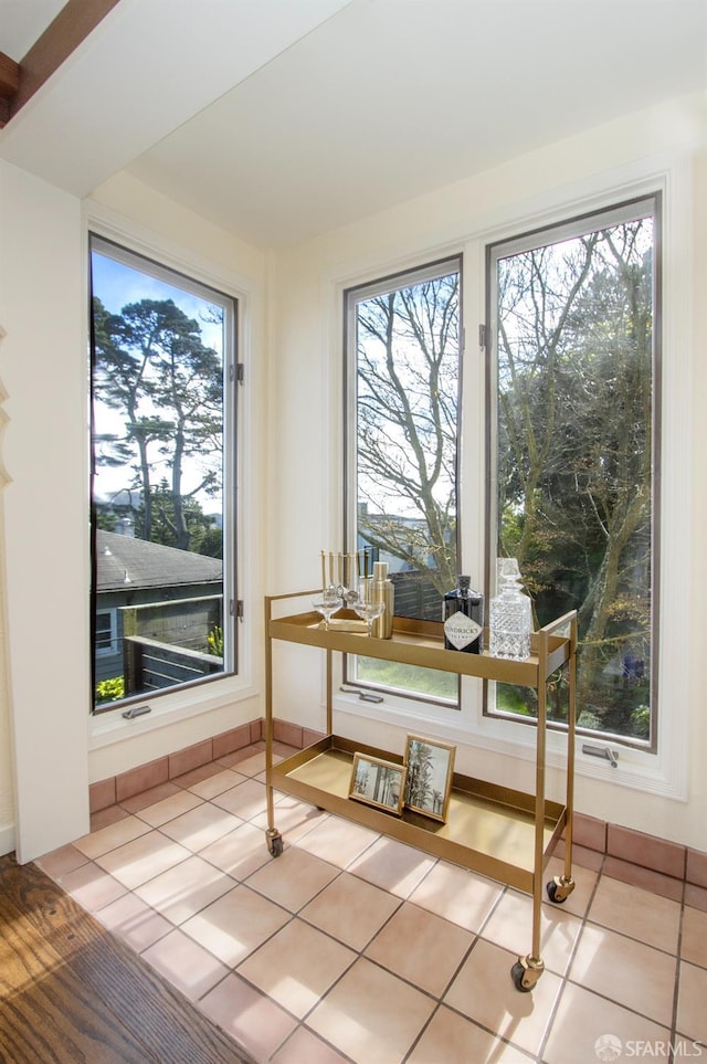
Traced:
<path fill-rule="evenodd" d="M 120 0 L 0 154 L 282 247 L 706 89 L 707 0 Z"/>

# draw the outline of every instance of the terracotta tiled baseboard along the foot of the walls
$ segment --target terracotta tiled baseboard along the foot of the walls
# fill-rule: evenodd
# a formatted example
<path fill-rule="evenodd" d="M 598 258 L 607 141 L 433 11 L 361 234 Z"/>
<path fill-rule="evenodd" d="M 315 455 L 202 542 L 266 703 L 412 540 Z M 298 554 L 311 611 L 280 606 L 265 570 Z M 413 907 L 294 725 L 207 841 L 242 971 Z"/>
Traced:
<path fill-rule="evenodd" d="M 92 783 L 91 812 L 166 783 L 209 761 L 218 761 L 226 754 L 260 741 L 264 734 L 265 721 L 262 718 L 251 720 L 176 754 Z M 273 734 L 276 741 L 297 749 L 323 738 L 320 733 L 287 720 L 274 720 Z M 685 889 L 685 899 L 689 904 L 707 910 L 707 853 L 584 813 L 574 813 L 573 825 L 573 857 L 578 864 L 602 865 L 603 871 L 616 879 L 676 900 Z M 562 845 L 560 843 L 558 853 L 561 853 Z"/>

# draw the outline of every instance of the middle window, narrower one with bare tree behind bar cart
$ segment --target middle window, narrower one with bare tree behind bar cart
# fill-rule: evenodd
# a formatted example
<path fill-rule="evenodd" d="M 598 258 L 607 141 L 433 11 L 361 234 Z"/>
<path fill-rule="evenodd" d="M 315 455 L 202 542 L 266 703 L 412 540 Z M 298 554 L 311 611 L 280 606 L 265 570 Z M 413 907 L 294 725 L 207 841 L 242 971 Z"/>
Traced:
<path fill-rule="evenodd" d="M 386 561 L 395 613 L 440 620 L 457 578 L 458 259 L 346 294 L 347 549 Z M 456 675 L 366 657 L 347 678 L 458 704 Z"/>

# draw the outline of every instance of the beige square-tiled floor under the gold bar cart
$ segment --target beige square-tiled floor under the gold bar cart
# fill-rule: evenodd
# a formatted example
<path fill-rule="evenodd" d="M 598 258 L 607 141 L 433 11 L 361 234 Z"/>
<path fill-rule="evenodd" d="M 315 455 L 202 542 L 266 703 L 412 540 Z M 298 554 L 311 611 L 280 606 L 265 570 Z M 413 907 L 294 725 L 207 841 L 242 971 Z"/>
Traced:
<path fill-rule="evenodd" d="M 519 993 L 527 896 L 283 794 L 273 860 L 264 759 L 257 744 L 123 801 L 38 862 L 256 1060 L 707 1056 L 706 912 L 576 864 Z"/>

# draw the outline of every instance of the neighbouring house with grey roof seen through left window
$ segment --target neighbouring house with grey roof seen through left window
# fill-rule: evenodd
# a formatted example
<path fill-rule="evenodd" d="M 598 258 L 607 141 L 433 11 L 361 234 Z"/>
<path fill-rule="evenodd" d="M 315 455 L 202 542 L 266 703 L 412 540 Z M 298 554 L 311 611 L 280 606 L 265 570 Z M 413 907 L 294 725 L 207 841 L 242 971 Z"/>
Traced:
<path fill-rule="evenodd" d="M 205 636 L 221 621 L 222 581 L 220 558 L 98 530 L 96 683 L 124 674 L 126 632 L 207 653 Z"/>

